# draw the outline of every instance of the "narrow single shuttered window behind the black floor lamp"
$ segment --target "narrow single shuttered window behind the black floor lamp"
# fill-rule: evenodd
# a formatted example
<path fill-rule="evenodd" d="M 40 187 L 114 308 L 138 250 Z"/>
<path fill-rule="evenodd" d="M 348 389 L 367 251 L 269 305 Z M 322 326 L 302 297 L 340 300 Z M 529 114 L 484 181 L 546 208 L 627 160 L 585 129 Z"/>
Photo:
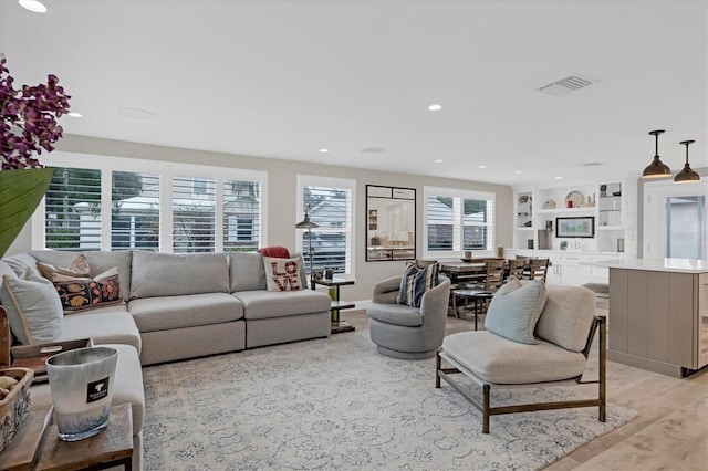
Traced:
<path fill-rule="evenodd" d="M 310 219 L 319 227 L 298 230 L 299 245 L 310 272 L 308 253 L 312 243 L 314 268 L 330 268 L 334 273 L 352 273 L 352 213 L 355 181 L 343 178 L 298 176 L 300 208 L 310 207 Z M 310 238 L 312 240 L 310 240 Z"/>

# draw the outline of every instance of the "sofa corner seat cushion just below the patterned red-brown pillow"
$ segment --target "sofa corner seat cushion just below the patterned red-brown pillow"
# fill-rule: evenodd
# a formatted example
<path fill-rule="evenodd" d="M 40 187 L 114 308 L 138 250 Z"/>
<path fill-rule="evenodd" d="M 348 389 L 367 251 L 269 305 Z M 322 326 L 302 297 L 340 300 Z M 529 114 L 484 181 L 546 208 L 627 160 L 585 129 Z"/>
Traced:
<path fill-rule="evenodd" d="M 125 304 L 64 316 L 64 328 L 56 341 L 80 338 L 92 338 L 96 345 L 132 345 L 138 353 L 142 348 L 140 333 Z"/>

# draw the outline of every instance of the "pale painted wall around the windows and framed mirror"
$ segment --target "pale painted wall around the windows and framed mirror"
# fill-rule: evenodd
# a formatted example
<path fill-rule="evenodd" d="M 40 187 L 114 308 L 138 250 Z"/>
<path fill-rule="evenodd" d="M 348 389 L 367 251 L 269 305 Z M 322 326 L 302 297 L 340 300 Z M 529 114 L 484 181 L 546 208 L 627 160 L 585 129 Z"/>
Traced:
<path fill-rule="evenodd" d="M 512 241 L 512 190 L 506 185 L 491 185 L 458 179 L 434 178 L 408 174 L 364 170 L 351 167 L 337 167 L 324 164 L 296 163 L 290 160 L 248 157 L 204 150 L 154 146 L 110 140 L 85 136 L 65 135 L 56 146 L 58 150 L 79 154 L 106 155 L 146 160 L 180 164 L 201 164 L 241 169 L 264 170 L 269 174 L 268 195 L 268 241 L 269 245 L 295 248 L 298 208 L 295 207 L 296 175 L 351 178 L 356 180 L 354 278 L 356 284 L 342 287 L 342 297 L 348 301 L 368 300 L 373 284 L 387 276 L 399 274 L 405 262 L 366 262 L 366 185 L 382 185 L 416 189 L 416 247 L 418 257 L 423 254 L 423 187 L 435 186 L 464 190 L 490 191 L 497 198 L 497 245 L 511 247 Z M 42 161 L 52 164 L 51 154 Z M 473 176 L 470 176 L 473 178 Z M 25 228 L 8 254 L 31 249 L 31 232 Z"/>

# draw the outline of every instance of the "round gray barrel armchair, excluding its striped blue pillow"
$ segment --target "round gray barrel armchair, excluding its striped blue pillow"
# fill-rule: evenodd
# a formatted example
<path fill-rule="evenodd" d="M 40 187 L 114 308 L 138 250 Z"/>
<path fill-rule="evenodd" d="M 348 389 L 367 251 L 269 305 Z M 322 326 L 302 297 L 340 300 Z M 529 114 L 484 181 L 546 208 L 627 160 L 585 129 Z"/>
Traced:
<path fill-rule="evenodd" d="M 396 304 L 400 276 L 374 285 L 369 317 L 372 342 L 378 353 L 393 358 L 419 359 L 435 356 L 442 345 L 450 296 L 450 280 L 439 275 L 437 286 L 423 295 L 420 307 Z"/>

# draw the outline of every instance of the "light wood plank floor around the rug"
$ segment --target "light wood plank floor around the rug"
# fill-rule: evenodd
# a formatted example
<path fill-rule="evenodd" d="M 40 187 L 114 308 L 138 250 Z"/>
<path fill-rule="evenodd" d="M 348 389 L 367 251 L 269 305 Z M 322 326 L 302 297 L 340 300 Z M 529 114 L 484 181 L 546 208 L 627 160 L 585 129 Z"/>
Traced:
<path fill-rule="evenodd" d="M 368 329 L 365 311 L 342 318 Z M 448 316 L 446 334 L 470 329 L 470 321 Z M 607 400 L 639 415 L 548 470 L 708 470 L 708 370 L 677 379 L 607 362 Z"/>

